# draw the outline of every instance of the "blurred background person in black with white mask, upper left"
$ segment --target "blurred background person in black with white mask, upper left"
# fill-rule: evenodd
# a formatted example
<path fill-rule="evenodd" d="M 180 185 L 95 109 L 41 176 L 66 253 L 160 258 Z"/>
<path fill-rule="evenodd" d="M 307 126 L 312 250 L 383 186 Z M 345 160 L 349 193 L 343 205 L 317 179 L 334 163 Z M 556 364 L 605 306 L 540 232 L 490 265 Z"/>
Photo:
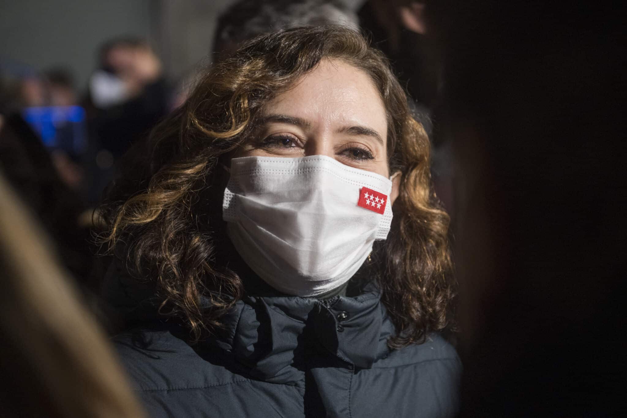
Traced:
<path fill-rule="evenodd" d="M 84 103 L 95 160 L 91 202 L 113 179 L 120 157 L 169 112 L 171 95 L 161 60 L 144 39 L 112 39 L 100 48 Z"/>

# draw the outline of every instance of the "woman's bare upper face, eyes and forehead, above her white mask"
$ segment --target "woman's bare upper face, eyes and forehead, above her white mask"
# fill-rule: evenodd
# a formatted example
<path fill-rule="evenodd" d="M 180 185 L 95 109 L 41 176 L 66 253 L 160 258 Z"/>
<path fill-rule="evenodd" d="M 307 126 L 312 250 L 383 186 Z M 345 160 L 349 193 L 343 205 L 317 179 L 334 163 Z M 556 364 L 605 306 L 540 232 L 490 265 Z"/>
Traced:
<path fill-rule="evenodd" d="M 389 177 L 386 112 L 369 76 L 323 60 L 263 109 L 258 137 L 236 157 L 327 155 Z"/>

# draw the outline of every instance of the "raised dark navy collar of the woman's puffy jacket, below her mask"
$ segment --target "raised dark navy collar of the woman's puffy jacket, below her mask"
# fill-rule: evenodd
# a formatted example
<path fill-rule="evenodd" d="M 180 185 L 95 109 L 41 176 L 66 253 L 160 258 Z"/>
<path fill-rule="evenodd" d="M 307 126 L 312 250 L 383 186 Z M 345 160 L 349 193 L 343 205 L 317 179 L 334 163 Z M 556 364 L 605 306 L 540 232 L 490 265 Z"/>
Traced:
<path fill-rule="evenodd" d="M 203 345 L 231 353 L 253 376 L 282 382 L 315 349 L 347 367 L 371 368 L 387 352 L 393 325 L 375 283 L 359 296 L 329 301 L 298 296 L 245 296 L 223 318 L 224 329 Z"/>

